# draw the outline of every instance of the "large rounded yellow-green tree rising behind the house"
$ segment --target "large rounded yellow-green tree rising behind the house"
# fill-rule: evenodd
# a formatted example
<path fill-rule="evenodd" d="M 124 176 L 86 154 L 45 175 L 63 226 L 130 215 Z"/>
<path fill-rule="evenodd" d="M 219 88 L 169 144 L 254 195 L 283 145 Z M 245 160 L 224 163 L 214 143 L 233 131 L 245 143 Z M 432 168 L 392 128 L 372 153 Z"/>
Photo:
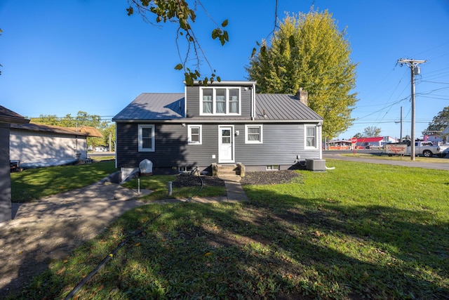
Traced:
<path fill-rule="evenodd" d="M 253 52 L 254 53 L 254 52 Z M 311 10 L 286 15 L 270 40 L 246 67 L 262 93 L 309 93 L 309 107 L 323 117 L 323 137 L 333 138 L 352 125 L 356 64 L 332 14 Z"/>

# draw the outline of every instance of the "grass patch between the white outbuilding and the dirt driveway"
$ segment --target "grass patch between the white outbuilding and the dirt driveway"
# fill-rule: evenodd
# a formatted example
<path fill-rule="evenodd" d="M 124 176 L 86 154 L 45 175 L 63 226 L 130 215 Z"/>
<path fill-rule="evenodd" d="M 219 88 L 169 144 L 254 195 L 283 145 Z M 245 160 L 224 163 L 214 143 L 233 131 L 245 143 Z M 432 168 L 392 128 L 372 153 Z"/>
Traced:
<path fill-rule="evenodd" d="M 11 173 L 13 202 L 29 202 L 90 185 L 116 171 L 114 161 L 27 169 Z"/>

